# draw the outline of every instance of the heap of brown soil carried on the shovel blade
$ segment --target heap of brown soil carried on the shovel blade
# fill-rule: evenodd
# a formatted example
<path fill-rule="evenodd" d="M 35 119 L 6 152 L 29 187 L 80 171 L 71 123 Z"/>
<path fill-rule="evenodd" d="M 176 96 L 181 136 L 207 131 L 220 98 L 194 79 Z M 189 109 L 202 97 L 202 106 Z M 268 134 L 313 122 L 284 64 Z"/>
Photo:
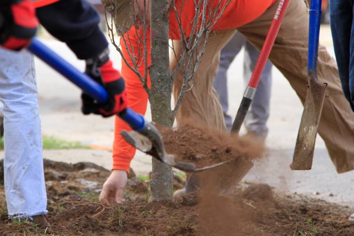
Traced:
<path fill-rule="evenodd" d="M 178 161 L 192 162 L 196 167 L 245 158 L 260 158 L 263 145 L 247 137 L 231 135 L 215 129 L 185 124 L 177 129 L 158 127 L 165 150 Z"/>

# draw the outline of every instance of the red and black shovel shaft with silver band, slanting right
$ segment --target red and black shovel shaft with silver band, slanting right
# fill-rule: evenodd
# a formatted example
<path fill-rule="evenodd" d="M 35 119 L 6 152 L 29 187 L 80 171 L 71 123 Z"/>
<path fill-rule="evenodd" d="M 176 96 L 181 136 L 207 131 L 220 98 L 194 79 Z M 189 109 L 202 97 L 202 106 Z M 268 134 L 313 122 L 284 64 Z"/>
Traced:
<path fill-rule="evenodd" d="M 294 0 L 297 1 L 297 0 Z M 262 50 L 260 51 L 260 55 L 258 57 L 258 61 L 253 70 L 251 79 L 249 80 L 248 86 L 245 90 L 243 99 L 241 101 L 240 107 L 237 111 L 236 118 L 234 123 L 232 124 L 231 132 L 239 133 L 242 123 L 245 120 L 247 111 L 252 103 L 252 100 L 255 95 L 255 91 L 258 86 L 258 82 L 260 76 L 263 72 L 265 63 L 267 63 L 268 57 L 271 54 L 275 39 L 278 35 L 283 17 L 285 15 L 286 9 L 288 8 L 290 0 L 280 0 L 277 11 L 274 15 L 271 27 L 268 31 L 267 37 L 262 46 Z"/>

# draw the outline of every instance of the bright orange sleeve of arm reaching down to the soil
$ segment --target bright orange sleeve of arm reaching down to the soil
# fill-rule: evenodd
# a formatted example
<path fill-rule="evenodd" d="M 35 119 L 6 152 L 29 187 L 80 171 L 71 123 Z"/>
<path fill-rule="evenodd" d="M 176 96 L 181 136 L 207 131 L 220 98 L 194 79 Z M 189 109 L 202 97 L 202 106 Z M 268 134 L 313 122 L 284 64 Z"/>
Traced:
<path fill-rule="evenodd" d="M 150 32 L 147 32 L 147 45 L 148 45 L 148 66 L 150 66 Z M 124 45 L 124 41 L 121 39 L 120 45 L 123 52 L 124 58 L 127 59 L 129 65 L 132 65 L 132 61 L 129 58 L 128 50 L 131 55 L 135 53 L 135 60 L 138 65 L 140 74 L 145 75 L 145 61 L 143 57 L 143 33 L 141 30 L 132 27 L 126 34 L 125 37 L 129 40 L 127 47 Z M 140 38 L 140 39 L 139 39 Z M 131 45 L 130 45 L 131 44 Z M 141 55 L 139 55 L 141 54 Z M 145 91 L 138 75 L 134 73 L 122 59 L 122 77 L 125 80 L 125 88 L 127 92 L 128 107 L 137 113 L 145 115 L 148 95 Z M 148 74 L 148 87 L 150 87 L 150 76 Z M 120 135 L 122 130 L 130 131 L 131 128 L 123 120 L 116 117 L 115 127 L 114 127 L 114 142 L 113 142 L 113 167 L 112 169 L 124 170 L 129 172 L 130 162 L 135 155 L 136 149 L 131 147 L 123 137 Z"/>

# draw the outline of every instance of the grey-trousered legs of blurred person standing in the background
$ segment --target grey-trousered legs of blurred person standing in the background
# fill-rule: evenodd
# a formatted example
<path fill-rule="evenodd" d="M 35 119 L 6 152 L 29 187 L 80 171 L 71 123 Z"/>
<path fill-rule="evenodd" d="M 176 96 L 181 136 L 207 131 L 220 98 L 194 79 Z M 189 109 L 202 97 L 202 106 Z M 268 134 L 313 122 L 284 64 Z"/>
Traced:
<path fill-rule="evenodd" d="M 227 113 L 229 109 L 228 101 L 228 86 L 227 86 L 227 71 L 242 48 L 245 48 L 244 63 L 243 63 L 243 80 L 245 86 L 252 76 L 253 69 L 259 57 L 259 51 L 252 46 L 242 36 L 241 33 L 236 32 L 231 40 L 226 44 L 220 53 L 220 63 L 217 74 L 214 78 L 214 88 L 219 96 L 220 103 L 223 107 L 225 117 L 225 124 L 228 131 L 231 130 L 233 120 Z M 232 78 L 237 79 L 237 78 Z M 272 87 L 272 63 L 267 61 L 263 73 L 259 80 L 255 97 L 252 101 L 251 107 L 246 115 L 244 125 L 247 130 L 247 135 L 251 135 L 265 141 L 268 134 L 267 121 L 270 111 Z M 238 104 L 234 104 L 238 106 Z M 236 115 L 236 114 L 235 114 Z"/>

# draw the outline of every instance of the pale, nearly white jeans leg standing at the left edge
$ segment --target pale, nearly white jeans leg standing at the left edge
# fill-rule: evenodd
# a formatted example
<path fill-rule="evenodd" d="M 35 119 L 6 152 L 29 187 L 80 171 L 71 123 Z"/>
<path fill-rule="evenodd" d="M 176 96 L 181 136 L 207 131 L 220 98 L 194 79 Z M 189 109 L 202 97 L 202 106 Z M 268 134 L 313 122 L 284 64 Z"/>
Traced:
<path fill-rule="evenodd" d="M 33 56 L 0 48 L 5 195 L 10 217 L 47 213 L 42 138 Z"/>

